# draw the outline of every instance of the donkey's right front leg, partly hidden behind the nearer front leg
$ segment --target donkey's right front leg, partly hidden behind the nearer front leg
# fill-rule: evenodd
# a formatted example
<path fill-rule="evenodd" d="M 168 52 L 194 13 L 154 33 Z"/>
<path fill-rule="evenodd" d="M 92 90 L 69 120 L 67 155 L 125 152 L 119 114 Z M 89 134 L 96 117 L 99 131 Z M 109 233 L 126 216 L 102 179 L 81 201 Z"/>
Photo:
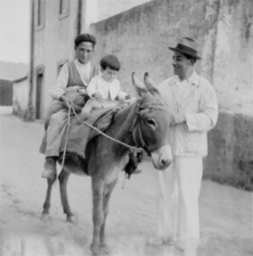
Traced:
<path fill-rule="evenodd" d="M 106 245 L 106 235 L 105 235 L 106 217 L 108 215 L 109 201 L 112 195 L 112 190 L 114 189 L 116 183 L 117 183 L 117 179 L 115 179 L 110 184 L 106 184 L 105 190 L 104 190 L 104 198 L 103 198 L 104 221 L 101 224 L 101 234 L 100 234 L 100 237 L 101 237 L 100 247 L 104 253 L 109 253 L 109 248 Z"/>

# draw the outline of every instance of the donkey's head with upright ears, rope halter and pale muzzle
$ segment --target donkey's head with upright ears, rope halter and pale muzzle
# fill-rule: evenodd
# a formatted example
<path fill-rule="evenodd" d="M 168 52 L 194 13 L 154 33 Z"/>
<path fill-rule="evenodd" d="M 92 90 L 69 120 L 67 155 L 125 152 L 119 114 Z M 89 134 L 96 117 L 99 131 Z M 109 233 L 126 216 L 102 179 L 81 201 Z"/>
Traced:
<path fill-rule="evenodd" d="M 136 79 L 135 73 L 132 73 L 132 81 L 141 97 L 133 130 L 135 143 L 152 157 L 155 168 L 163 170 L 172 161 L 169 142 L 170 113 L 148 73 L 144 75 L 145 86 Z"/>

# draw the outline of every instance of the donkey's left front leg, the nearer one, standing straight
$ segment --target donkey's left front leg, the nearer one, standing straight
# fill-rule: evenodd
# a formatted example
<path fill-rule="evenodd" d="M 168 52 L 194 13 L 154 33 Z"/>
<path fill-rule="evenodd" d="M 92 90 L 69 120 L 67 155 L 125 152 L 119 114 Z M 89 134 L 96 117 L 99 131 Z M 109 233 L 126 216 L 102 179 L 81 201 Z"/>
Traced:
<path fill-rule="evenodd" d="M 104 183 L 101 178 L 92 177 L 92 199 L 93 199 L 93 239 L 90 250 L 93 255 L 101 254 L 100 234 L 101 224 L 104 221 L 103 212 Z"/>

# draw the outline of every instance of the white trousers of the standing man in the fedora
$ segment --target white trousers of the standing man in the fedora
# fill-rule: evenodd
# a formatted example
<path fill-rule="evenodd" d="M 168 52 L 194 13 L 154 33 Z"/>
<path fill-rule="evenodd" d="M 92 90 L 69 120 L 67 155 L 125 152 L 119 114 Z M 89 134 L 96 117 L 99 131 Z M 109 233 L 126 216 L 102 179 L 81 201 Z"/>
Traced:
<path fill-rule="evenodd" d="M 202 157 L 175 156 L 167 169 L 158 171 L 158 236 L 179 242 L 186 253 L 198 247 L 202 174 Z"/>

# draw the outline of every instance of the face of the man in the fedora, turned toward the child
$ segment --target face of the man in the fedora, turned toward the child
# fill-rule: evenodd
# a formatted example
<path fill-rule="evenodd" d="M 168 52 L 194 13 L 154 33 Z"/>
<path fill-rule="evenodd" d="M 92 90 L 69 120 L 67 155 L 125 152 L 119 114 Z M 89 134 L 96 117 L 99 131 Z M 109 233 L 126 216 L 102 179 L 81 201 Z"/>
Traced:
<path fill-rule="evenodd" d="M 183 76 L 186 75 L 187 70 L 191 68 L 192 63 L 190 59 L 187 59 L 185 55 L 182 55 L 180 52 L 175 51 L 174 55 L 172 56 L 172 66 L 175 75 Z"/>

